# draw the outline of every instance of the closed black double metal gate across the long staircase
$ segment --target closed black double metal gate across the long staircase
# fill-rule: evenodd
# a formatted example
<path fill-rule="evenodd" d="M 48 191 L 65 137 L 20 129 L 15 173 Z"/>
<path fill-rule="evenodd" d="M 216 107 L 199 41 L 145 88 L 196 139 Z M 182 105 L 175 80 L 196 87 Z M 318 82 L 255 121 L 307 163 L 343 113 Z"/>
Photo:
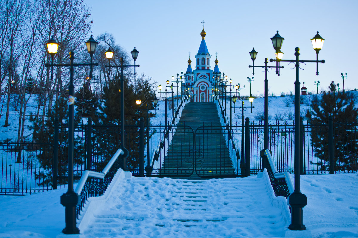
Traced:
<path fill-rule="evenodd" d="M 166 134 L 163 131 L 161 140 L 156 143 L 157 152 L 153 156 L 151 176 L 172 178 L 240 176 L 237 169 L 234 169 L 223 129 L 224 127 L 220 126 L 201 126 L 194 131 L 189 126 L 173 126 Z M 155 138 L 154 140 L 157 141 Z"/>

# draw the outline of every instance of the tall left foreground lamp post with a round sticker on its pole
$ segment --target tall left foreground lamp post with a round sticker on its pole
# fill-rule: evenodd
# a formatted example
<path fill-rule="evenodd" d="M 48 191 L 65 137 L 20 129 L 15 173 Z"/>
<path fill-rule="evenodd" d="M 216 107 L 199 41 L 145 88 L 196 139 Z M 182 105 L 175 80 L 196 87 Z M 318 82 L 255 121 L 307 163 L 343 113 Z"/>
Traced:
<path fill-rule="evenodd" d="M 92 35 L 88 41 L 87 51 L 92 56 L 96 51 L 98 42 L 96 42 Z M 79 195 L 73 190 L 73 152 L 74 152 L 74 85 L 73 85 L 73 68 L 75 66 L 90 66 L 91 71 L 93 66 L 97 66 L 98 63 L 93 64 L 74 64 L 74 53 L 69 52 L 70 64 L 53 64 L 53 57 L 57 53 L 58 43 L 53 37 L 46 43 L 47 52 L 52 57 L 51 64 L 45 64 L 46 67 L 69 67 L 70 69 L 70 83 L 68 89 L 68 190 L 61 196 L 61 204 L 65 207 L 65 222 L 66 227 L 62 230 L 64 234 L 79 234 L 79 229 L 76 227 L 76 206 L 78 204 Z M 90 73 L 90 75 L 92 72 Z"/>

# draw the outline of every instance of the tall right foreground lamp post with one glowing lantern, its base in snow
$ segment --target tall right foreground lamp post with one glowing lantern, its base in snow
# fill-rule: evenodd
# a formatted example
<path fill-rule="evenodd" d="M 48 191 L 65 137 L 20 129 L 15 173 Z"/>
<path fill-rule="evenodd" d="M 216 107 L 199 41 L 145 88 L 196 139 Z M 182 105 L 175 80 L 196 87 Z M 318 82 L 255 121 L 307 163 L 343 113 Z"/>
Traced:
<path fill-rule="evenodd" d="M 295 158 L 295 189 L 294 192 L 289 196 L 288 203 L 291 207 L 291 224 L 288 227 L 290 230 L 305 230 L 306 227 L 303 224 L 303 215 L 302 208 L 307 204 L 307 197 L 300 191 L 300 81 L 299 81 L 299 64 L 305 62 L 312 62 L 317 64 L 316 75 L 318 75 L 318 63 L 324 63 L 324 60 L 318 60 L 318 53 L 322 49 L 324 39 L 317 34 L 311 39 L 313 49 L 316 51 L 316 60 L 299 60 L 299 47 L 295 48 L 295 60 L 282 60 L 277 57 L 277 52 L 279 52 L 282 41 L 282 38 L 277 31 L 277 34 L 271 38 L 272 45 L 276 50 L 276 60 L 270 59 L 270 62 L 294 62 L 296 68 L 296 81 L 295 81 L 295 144 L 294 144 L 294 158 Z M 302 161 L 303 162 L 303 161 Z"/>

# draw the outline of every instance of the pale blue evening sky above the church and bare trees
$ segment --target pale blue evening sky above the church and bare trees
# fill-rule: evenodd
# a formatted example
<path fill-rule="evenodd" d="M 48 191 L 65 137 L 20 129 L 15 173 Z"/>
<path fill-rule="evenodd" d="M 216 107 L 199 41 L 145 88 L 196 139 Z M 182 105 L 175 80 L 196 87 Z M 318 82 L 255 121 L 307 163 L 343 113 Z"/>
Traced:
<path fill-rule="evenodd" d="M 316 91 L 314 81 L 320 81 L 319 91 L 334 80 L 343 81 L 340 73 L 347 72 L 345 89 L 358 88 L 355 58 L 358 47 L 350 45 L 357 39 L 358 1 L 94 1 L 92 6 L 93 35 L 103 32 L 115 36 L 128 52 L 134 46 L 139 50 L 136 71 L 165 85 L 172 75 L 185 73 L 190 58 L 195 59 L 201 41 L 202 21 L 205 21 L 205 37 L 212 55 L 211 69 L 217 54 L 219 69 L 233 80 L 233 84 L 245 85 L 242 94 L 249 94 L 247 76 L 252 77 L 252 64 L 248 52 L 255 47 L 258 52 L 255 65 L 264 65 L 264 59 L 274 57 L 270 37 L 279 31 L 285 38 L 282 45 L 284 59 L 294 59 L 295 47 L 300 47 L 300 59 L 315 60 L 316 54 L 310 39 L 319 31 L 325 39 L 316 64 L 307 63 L 300 70 L 308 91 Z M 108 10 L 112 11 L 108 13 Z M 269 63 L 273 65 L 274 63 Z M 194 60 L 192 62 L 194 65 Z M 269 91 L 276 93 L 294 91 L 295 70 L 293 64 L 282 63 L 281 75 L 269 72 Z M 264 72 L 255 69 L 252 93 L 263 93 Z"/>

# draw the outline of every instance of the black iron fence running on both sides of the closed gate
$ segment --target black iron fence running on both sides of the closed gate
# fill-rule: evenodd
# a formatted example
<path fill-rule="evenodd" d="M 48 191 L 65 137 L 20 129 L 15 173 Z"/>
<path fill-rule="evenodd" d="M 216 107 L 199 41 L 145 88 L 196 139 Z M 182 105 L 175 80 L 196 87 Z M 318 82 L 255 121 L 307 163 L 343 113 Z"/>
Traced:
<path fill-rule="evenodd" d="M 250 174 L 262 170 L 263 123 L 250 123 Z M 150 126 L 149 156 L 153 160 L 153 150 L 163 137 L 165 126 Z M 294 171 L 294 125 L 287 122 L 270 123 L 268 128 L 269 150 L 278 172 Z M 53 155 L 58 153 L 57 187 L 67 184 L 68 128 L 58 128 L 58 146 L 49 143 L 0 143 L 1 186 L 0 194 L 30 194 L 48 191 L 54 187 Z M 328 125 L 302 125 L 302 143 L 300 150 L 303 174 L 328 174 L 329 149 Z M 78 125 L 75 129 L 74 181 L 84 170 L 101 171 L 103 166 L 120 147 L 120 126 L 118 125 Z M 127 167 L 135 176 L 139 176 L 139 125 L 125 126 L 125 147 L 129 150 Z M 145 131 L 146 133 L 146 131 Z M 358 171 L 358 124 L 336 124 L 333 126 L 333 159 L 335 173 Z M 242 148 L 242 127 L 232 126 L 232 141 Z M 316 141 L 313 143 L 312 138 Z M 147 138 L 145 136 L 145 138 Z M 317 139 L 318 138 L 318 139 Z M 145 139 L 146 140 L 146 139 Z M 322 140 L 321 147 L 318 147 Z M 318 142 L 317 142 L 318 141 Z M 145 145 L 146 145 L 145 141 Z M 238 159 L 240 155 L 237 155 Z M 148 161 L 148 158 L 144 158 Z M 240 161 L 234 166 L 239 169 Z M 150 164 L 153 165 L 153 164 Z M 238 171 L 237 171 L 238 172 Z"/>

